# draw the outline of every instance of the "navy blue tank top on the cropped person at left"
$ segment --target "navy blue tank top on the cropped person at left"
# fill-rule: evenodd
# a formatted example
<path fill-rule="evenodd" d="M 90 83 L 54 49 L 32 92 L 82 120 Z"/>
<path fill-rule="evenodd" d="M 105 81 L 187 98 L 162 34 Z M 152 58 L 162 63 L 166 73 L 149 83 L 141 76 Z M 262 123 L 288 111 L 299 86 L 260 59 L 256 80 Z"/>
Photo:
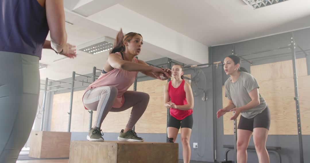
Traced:
<path fill-rule="evenodd" d="M 49 28 L 37 0 L 0 0 L 0 51 L 41 58 Z"/>

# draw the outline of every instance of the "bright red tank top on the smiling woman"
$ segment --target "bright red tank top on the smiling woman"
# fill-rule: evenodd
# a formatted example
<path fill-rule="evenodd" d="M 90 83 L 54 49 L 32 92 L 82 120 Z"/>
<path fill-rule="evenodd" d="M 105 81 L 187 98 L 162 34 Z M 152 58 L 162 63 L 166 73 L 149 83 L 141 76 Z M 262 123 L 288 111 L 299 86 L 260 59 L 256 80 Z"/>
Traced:
<path fill-rule="evenodd" d="M 171 99 L 171 102 L 175 103 L 175 105 L 186 105 L 186 93 L 184 90 L 184 83 L 185 80 L 181 82 L 181 84 L 178 86 L 178 88 L 174 88 L 172 86 L 171 81 L 169 82 L 168 86 L 168 93 L 169 97 Z M 176 119 L 182 120 L 188 115 L 191 115 L 193 113 L 193 109 L 189 110 L 179 110 L 175 108 L 170 108 L 170 115 L 175 117 Z"/>

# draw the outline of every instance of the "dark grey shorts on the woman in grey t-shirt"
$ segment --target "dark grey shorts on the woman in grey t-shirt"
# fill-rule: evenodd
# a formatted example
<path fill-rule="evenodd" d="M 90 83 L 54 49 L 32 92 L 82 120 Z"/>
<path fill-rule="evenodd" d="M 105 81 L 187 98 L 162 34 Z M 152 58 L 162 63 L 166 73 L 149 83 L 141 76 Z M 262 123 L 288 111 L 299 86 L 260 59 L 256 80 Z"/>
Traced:
<path fill-rule="evenodd" d="M 240 116 L 238 129 L 242 130 L 250 130 L 253 132 L 253 128 L 262 127 L 267 128 L 269 130 L 270 127 L 270 110 L 268 106 L 266 109 L 255 115 L 253 118 L 244 118 L 242 115 Z"/>

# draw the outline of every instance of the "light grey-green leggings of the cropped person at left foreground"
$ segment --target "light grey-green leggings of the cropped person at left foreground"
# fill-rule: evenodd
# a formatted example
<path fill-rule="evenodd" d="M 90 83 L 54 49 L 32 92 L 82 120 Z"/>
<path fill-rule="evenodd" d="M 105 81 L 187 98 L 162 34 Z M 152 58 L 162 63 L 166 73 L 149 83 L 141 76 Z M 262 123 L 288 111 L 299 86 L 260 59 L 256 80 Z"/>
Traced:
<path fill-rule="evenodd" d="M 0 162 L 11 163 L 26 143 L 38 107 L 39 57 L 0 52 Z"/>

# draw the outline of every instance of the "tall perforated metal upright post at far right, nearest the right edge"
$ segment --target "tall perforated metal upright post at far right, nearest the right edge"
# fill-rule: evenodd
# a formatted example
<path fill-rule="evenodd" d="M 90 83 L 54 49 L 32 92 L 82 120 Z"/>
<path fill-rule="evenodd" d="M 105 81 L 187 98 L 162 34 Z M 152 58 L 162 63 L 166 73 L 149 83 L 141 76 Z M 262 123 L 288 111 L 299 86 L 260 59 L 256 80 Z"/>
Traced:
<path fill-rule="evenodd" d="M 300 163 L 303 163 L 303 141 L 301 133 L 301 121 L 300 121 L 300 109 L 299 109 L 299 94 L 298 94 L 298 82 L 297 82 L 297 71 L 296 71 L 296 54 L 295 54 L 295 41 L 294 33 L 291 32 L 291 43 L 290 48 L 292 51 L 292 60 L 293 60 L 293 71 L 294 71 L 294 88 L 295 88 L 295 103 L 296 103 L 296 114 L 297 114 L 297 131 L 298 131 L 298 142 L 299 142 L 299 157 Z"/>

